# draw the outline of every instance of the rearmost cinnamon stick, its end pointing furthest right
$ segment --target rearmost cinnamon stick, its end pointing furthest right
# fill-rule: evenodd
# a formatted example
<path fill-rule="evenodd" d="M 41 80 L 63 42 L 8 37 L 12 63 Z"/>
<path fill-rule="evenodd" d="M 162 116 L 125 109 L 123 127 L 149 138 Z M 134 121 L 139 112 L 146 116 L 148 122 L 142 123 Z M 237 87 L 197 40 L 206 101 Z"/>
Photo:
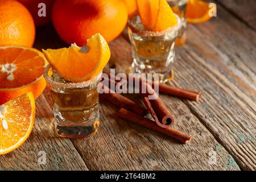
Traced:
<path fill-rule="evenodd" d="M 106 73 L 110 77 L 109 72 L 104 72 L 104 73 Z M 126 75 L 126 77 L 127 77 L 127 81 L 128 81 L 129 76 Z M 153 87 L 155 86 L 154 82 L 149 81 L 149 80 L 147 80 L 147 82 L 149 84 L 151 84 Z M 182 88 L 178 88 L 176 86 L 169 86 L 166 84 L 158 84 L 158 86 L 159 86 L 159 92 L 170 94 L 170 95 L 176 96 L 176 97 L 187 98 L 187 99 L 193 100 L 193 101 L 199 101 L 200 96 L 201 96 L 201 92 L 182 89 Z"/>

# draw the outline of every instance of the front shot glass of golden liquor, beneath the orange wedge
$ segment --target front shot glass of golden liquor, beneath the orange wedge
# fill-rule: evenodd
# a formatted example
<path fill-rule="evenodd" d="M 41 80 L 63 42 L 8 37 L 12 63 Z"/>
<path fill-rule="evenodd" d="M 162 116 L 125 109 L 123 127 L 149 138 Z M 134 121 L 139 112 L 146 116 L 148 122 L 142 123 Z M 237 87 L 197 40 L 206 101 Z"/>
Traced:
<path fill-rule="evenodd" d="M 71 82 L 60 77 L 50 65 L 44 71 L 51 90 L 57 135 L 84 138 L 97 133 L 100 125 L 98 85 L 101 75 L 84 82 Z"/>

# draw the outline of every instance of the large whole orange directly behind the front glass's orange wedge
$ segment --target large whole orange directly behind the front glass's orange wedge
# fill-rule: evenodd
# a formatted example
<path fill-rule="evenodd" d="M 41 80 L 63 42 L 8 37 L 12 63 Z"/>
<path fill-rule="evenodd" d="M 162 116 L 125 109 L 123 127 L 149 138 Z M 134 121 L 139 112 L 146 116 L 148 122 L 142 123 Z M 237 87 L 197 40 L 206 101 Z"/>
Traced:
<path fill-rule="evenodd" d="M 79 46 L 97 33 L 112 41 L 125 28 L 127 18 L 121 0 L 56 0 L 52 7 L 52 22 L 60 38 Z"/>

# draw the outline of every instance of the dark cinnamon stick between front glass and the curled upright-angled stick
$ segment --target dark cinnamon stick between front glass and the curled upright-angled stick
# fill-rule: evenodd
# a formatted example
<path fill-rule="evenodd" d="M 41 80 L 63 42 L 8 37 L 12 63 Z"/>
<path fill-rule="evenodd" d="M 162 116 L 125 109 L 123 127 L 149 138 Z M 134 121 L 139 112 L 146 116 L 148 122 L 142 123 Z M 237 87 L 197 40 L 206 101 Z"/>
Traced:
<path fill-rule="evenodd" d="M 122 96 L 121 94 L 116 92 L 110 93 L 110 89 L 106 85 L 104 85 L 103 89 L 104 93 L 101 93 L 100 97 L 104 97 L 106 100 L 112 102 L 112 104 L 116 106 L 123 107 L 140 115 L 146 115 L 147 109 L 144 107 L 137 105 L 134 101 Z"/>

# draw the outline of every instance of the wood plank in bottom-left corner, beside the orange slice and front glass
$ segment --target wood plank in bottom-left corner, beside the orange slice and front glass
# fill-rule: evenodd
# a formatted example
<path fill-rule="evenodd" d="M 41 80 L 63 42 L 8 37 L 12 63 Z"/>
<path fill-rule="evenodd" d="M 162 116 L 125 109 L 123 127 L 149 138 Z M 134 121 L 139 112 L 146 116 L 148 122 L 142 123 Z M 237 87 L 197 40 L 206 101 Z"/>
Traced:
<path fill-rule="evenodd" d="M 18 149 L 0 156 L 0 170 L 88 170 L 69 139 L 53 134 L 52 109 L 44 95 L 36 100 L 36 118 L 30 137 Z M 40 164 L 39 152 L 46 154 L 46 164 Z"/>

